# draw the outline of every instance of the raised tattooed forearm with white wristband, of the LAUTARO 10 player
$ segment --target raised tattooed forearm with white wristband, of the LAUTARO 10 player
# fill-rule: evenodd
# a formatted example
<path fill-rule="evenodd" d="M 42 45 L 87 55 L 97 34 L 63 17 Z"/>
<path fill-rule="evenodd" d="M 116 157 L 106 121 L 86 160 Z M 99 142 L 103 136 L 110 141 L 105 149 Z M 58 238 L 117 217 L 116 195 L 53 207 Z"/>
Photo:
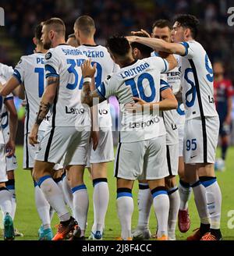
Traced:
<path fill-rule="evenodd" d="M 86 60 L 83 65 L 81 65 L 82 76 L 83 76 L 83 87 L 81 92 L 81 103 L 87 104 L 90 107 L 97 105 L 105 99 L 101 98 L 97 93 L 97 90 L 91 91 L 91 84 L 94 83 L 94 74 L 96 72 L 96 64 L 91 66 L 90 60 Z"/>

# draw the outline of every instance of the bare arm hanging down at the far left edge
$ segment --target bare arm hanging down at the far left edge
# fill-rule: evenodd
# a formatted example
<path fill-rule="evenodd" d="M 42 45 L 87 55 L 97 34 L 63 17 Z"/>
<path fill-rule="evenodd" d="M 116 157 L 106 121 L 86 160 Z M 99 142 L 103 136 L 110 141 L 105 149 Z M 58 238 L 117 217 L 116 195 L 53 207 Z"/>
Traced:
<path fill-rule="evenodd" d="M 16 149 L 16 132 L 18 128 L 18 116 L 16 111 L 16 106 L 13 99 L 5 101 L 5 106 L 9 111 L 9 141 L 6 143 L 5 148 L 7 150 L 7 155 L 14 155 Z"/>

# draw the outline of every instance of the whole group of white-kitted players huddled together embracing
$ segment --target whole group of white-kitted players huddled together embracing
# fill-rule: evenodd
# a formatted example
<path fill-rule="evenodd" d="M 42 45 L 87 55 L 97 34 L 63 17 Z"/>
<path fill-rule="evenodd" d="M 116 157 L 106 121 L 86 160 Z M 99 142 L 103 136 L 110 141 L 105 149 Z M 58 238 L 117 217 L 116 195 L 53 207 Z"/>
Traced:
<path fill-rule="evenodd" d="M 187 240 L 222 240 L 222 194 L 214 169 L 219 119 L 211 62 L 196 41 L 198 23 L 191 15 L 177 16 L 173 25 L 157 20 L 151 35 L 140 30 L 113 36 L 103 47 L 94 41 L 90 16 L 76 20 L 74 35 L 67 42 L 65 24 L 51 18 L 35 29 L 34 54 L 23 56 L 15 69 L 0 66 L 1 116 L 9 113 L 9 136 L 0 130 L 5 240 L 16 235 L 12 179 L 7 172 L 16 169 L 7 164 L 15 159 L 17 119 L 12 94 L 27 105 L 23 169 L 29 169 L 34 180 L 39 240 L 85 239 L 86 167 L 94 184 L 89 239 L 105 239 L 107 169 L 114 160 L 108 104 L 112 96 L 119 101 L 121 118 L 114 167 L 121 225 L 118 240 L 176 240 L 177 219 L 180 232 L 190 229 L 192 191 L 200 227 Z M 139 217 L 132 230 L 135 180 Z M 154 234 L 149 229 L 151 206 L 158 223 Z M 60 220 L 55 236 L 54 212 Z"/>

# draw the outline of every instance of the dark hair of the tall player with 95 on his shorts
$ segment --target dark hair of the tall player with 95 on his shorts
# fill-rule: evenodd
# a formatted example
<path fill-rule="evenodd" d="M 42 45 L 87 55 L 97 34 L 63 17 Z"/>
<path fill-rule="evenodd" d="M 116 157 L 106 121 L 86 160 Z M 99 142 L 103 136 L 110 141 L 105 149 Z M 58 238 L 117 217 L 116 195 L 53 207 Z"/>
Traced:
<path fill-rule="evenodd" d="M 179 16 L 176 16 L 175 22 L 176 21 L 179 23 L 179 26 L 189 28 L 194 39 L 197 37 L 199 20 L 197 20 L 195 16 L 190 14 L 180 14 Z"/>

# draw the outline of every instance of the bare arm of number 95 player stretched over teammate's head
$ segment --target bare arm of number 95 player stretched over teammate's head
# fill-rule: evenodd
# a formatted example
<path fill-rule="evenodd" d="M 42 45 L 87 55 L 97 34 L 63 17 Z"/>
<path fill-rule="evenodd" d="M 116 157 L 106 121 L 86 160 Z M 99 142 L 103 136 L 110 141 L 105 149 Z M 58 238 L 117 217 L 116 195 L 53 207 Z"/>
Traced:
<path fill-rule="evenodd" d="M 168 52 L 172 54 L 185 55 L 186 48 L 183 44 L 177 43 L 168 43 L 162 39 L 158 38 L 149 38 L 149 37 L 136 37 L 130 36 L 126 37 L 129 42 L 137 42 L 140 44 L 145 44 L 154 49 L 156 52 Z"/>

